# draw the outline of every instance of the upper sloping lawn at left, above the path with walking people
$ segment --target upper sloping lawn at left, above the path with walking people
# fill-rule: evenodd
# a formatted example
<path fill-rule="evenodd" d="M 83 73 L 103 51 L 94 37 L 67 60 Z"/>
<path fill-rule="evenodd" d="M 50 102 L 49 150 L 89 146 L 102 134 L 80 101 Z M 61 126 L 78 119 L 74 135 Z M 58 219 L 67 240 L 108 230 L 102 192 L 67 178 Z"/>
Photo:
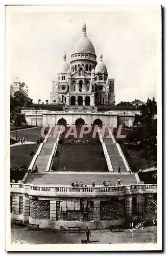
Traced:
<path fill-rule="evenodd" d="M 25 138 L 27 141 L 32 141 L 36 142 L 37 140 L 44 140 L 44 138 L 41 137 L 40 135 L 41 132 L 41 127 L 37 127 L 34 129 L 29 129 L 29 130 L 23 130 L 23 131 L 18 131 L 17 136 L 18 138 Z M 10 132 L 10 135 L 16 138 L 16 131 Z"/>

